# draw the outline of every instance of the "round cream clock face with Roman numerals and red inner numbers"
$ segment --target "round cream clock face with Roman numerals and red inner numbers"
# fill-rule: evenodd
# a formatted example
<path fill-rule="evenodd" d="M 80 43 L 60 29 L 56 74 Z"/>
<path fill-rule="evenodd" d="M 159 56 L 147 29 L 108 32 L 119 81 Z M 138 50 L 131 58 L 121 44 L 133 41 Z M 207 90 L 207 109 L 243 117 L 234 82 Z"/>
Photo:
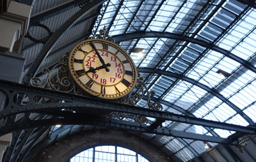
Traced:
<path fill-rule="evenodd" d="M 136 66 L 130 55 L 109 41 L 83 41 L 70 53 L 68 65 L 81 88 L 103 99 L 124 97 L 136 84 Z"/>

